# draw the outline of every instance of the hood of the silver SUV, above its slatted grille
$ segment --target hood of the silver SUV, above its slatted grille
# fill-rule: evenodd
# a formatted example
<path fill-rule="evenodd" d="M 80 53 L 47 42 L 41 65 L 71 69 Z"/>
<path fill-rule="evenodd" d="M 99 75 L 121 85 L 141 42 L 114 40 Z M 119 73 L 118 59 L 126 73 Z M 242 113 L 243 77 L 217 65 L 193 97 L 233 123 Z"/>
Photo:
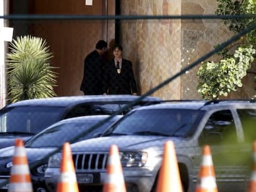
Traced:
<path fill-rule="evenodd" d="M 75 151 L 108 151 L 111 144 L 116 144 L 121 150 L 141 150 L 146 148 L 163 148 L 163 144 L 172 140 L 176 143 L 176 148 L 186 148 L 190 145 L 189 140 L 166 136 L 106 136 L 93 138 L 71 144 L 72 152 Z M 179 142 L 177 142 L 179 141 Z"/>

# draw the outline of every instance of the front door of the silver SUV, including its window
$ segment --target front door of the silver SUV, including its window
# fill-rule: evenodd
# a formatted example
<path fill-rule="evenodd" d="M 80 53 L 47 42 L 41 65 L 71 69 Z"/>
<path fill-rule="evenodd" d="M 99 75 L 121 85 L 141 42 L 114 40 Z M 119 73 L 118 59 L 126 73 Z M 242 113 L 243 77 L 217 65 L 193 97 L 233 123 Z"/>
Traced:
<path fill-rule="evenodd" d="M 245 190 L 246 161 L 241 156 L 241 135 L 237 131 L 241 127 L 236 122 L 229 109 L 213 112 L 198 138 L 201 156 L 197 161 L 202 161 L 202 146 L 208 144 L 219 191 Z"/>

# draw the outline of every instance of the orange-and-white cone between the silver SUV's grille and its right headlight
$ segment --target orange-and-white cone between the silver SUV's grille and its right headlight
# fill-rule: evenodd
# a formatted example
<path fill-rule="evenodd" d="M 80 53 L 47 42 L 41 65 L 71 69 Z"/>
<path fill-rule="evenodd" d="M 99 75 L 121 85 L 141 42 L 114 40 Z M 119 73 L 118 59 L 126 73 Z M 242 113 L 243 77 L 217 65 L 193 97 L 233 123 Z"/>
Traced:
<path fill-rule="evenodd" d="M 109 148 L 108 165 L 103 192 L 126 192 L 122 165 L 119 159 L 119 150 L 116 145 Z"/>

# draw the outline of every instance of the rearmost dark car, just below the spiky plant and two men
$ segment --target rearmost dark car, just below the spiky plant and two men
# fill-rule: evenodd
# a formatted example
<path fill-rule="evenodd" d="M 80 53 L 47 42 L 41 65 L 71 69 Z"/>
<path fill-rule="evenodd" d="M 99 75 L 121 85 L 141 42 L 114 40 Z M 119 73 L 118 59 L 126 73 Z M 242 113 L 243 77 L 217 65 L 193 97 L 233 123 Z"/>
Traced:
<path fill-rule="evenodd" d="M 134 103 L 136 101 L 136 103 Z M 138 102 L 137 102 L 138 101 Z M 0 149 L 13 146 L 15 138 L 27 141 L 36 133 L 62 119 L 83 115 L 126 114 L 133 108 L 161 101 L 157 97 L 132 95 L 64 96 L 30 99 L 0 110 Z M 131 103 L 132 106 L 130 106 Z M 124 108 L 123 111 L 120 109 Z"/>

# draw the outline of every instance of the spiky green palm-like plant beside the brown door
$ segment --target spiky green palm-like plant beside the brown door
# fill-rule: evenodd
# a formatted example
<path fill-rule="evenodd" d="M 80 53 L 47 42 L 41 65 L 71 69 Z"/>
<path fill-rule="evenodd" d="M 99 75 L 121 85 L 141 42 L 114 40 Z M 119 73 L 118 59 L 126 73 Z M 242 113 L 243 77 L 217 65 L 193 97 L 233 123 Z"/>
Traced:
<path fill-rule="evenodd" d="M 7 54 L 7 91 L 9 100 L 49 98 L 56 96 L 57 73 L 49 61 L 53 54 L 42 38 L 18 36 Z"/>

